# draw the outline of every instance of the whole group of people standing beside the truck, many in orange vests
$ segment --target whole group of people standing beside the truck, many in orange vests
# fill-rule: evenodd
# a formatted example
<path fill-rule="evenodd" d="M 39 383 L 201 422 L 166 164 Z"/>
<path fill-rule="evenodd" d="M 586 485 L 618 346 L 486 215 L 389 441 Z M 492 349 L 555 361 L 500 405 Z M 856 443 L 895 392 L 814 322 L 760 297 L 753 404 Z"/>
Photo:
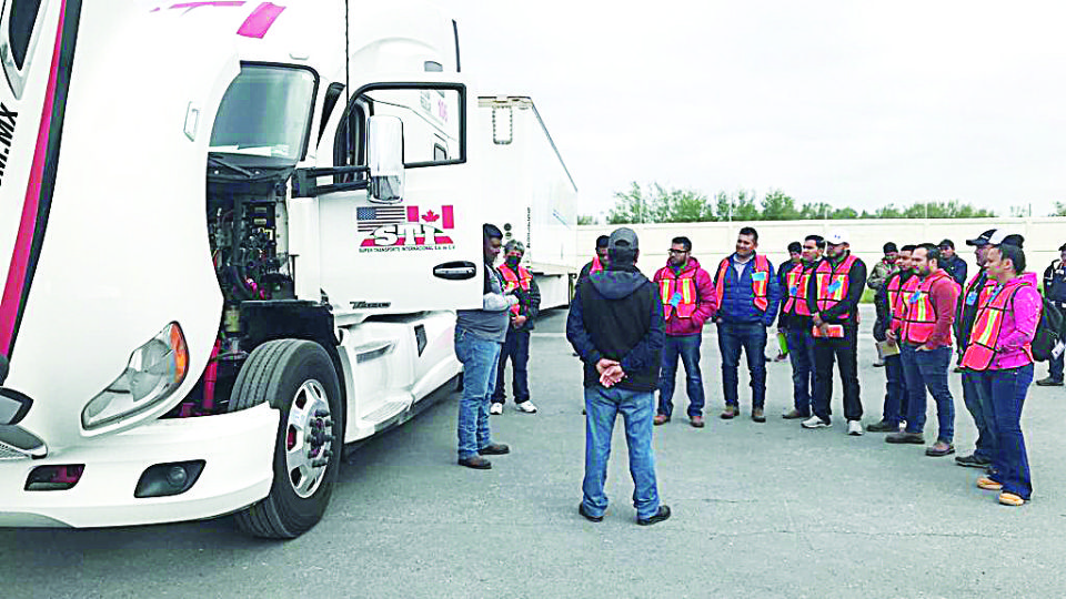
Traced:
<path fill-rule="evenodd" d="M 491 468 L 482 456 L 509 453 L 493 443 L 489 415 L 501 414 L 503 374 L 512 363 L 512 393 L 517 409 L 535 413 L 526 363 L 530 329 L 540 294 L 521 266 L 521 243 L 509 242 L 505 262 L 494 263 L 502 234 L 485 225 L 485 280 L 482 309 L 460 311 L 455 349 L 464 364 L 465 385 L 459 417 L 459 463 Z M 625 420 L 633 502 L 637 524 L 670 517 L 658 499 L 652 429 L 671 422 L 680 361 L 685 369 L 686 415 L 702 428 L 706 408 L 700 370 L 703 328 L 717 327 L 722 357 L 723 419 L 741 415 L 738 368 L 745 355 L 752 398 L 751 419 L 765 423 L 766 346 L 775 323 L 781 353 L 791 362 L 793 403 L 782 415 L 805 429 L 833 425 L 833 367 L 843 387 L 846 432 L 887 433 L 892 444 L 924 445 L 926 397 L 936 405 L 933 457 L 955 453 L 954 398 L 948 373 L 962 373 L 967 410 L 978 429 L 976 448 L 955 458 L 961 466 L 985 469 L 977 486 L 998 490 L 999 501 L 1029 500 L 1032 481 L 1020 429 L 1020 413 L 1034 378 L 1030 344 L 1044 298 L 1036 275 L 1026 271 L 1024 238 L 990 230 L 966 243 L 974 247 L 977 273 L 967 278 L 966 262 L 951 240 L 897 247 L 867 274 L 851 252 L 846 232 L 808 235 L 790 244 L 790 260 L 776 271 L 758 252 L 758 233 L 740 230 L 735 252 L 713 274 L 692 254 L 692 241 L 673 238 L 666 264 L 647 280 L 636 267 L 638 238 L 622 227 L 596 241 L 596 255 L 580 274 L 566 323 L 566 337 L 584 364 L 586 413 L 585 477 L 579 511 L 600 521 L 607 507 L 603 493 L 611 433 L 619 414 Z M 1066 245 L 1062 260 L 1044 274 L 1048 301 L 1066 308 Z M 864 288 L 875 292 L 874 341 L 877 366 L 886 374 L 882 418 L 863 427 L 858 382 L 859 309 Z M 954 358 L 954 361 L 953 361 Z M 1063 385 L 1062 354 L 1039 385 Z M 655 395 L 657 393 L 657 402 Z M 491 406 L 491 407 L 490 407 Z"/>

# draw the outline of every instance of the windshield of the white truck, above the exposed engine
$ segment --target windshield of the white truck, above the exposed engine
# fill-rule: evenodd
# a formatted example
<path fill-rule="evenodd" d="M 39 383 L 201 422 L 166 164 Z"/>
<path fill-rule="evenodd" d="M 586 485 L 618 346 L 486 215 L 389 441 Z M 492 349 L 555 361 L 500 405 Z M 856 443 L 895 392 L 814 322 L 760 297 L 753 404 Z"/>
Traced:
<path fill-rule="evenodd" d="M 211 151 L 299 161 L 315 78 L 305 69 L 241 67 L 211 131 Z"/>

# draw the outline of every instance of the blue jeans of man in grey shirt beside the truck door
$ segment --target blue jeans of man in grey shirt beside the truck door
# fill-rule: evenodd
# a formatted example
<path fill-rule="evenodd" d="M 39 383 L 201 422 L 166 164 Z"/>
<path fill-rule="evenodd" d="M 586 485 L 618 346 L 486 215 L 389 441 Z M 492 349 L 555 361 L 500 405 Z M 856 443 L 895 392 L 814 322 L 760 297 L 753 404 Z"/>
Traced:
<path fill-rule="evenodd" d="M 477 455 L 492 444 L 489 395 L 496 385 L 500 343 L 455 328 L 455 357 L 463 363 L 463 398 L 459 402 L 459 457 Z"/>

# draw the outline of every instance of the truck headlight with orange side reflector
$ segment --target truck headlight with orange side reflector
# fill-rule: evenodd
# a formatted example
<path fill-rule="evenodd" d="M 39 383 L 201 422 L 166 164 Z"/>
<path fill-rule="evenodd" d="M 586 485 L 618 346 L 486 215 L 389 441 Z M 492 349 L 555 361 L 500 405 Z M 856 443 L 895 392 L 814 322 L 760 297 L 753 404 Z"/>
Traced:
<path fill-rule="evenodd" d="M 174 393 L 189 370 L 189 348 L 178 323 L 130 355 L 125 370 L 86 405 L 81 424 L 87 430 L 141 413 Z"/>

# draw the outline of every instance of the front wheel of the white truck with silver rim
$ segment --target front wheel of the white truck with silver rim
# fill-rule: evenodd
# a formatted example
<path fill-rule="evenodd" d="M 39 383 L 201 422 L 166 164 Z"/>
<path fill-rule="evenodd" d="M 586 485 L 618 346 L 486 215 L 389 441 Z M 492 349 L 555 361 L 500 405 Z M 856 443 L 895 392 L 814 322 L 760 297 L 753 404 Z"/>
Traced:
<path fill-rule="evenodd" d="M 344 415 L 329 354 L 302 339 L 257 347 L 237 377 L 229 412 L 263 402 L 281 410 L 274 480 L 270 495 L 235 519 L 257 537 L 292 539 L 322 519 L 340 470 Z"/>

